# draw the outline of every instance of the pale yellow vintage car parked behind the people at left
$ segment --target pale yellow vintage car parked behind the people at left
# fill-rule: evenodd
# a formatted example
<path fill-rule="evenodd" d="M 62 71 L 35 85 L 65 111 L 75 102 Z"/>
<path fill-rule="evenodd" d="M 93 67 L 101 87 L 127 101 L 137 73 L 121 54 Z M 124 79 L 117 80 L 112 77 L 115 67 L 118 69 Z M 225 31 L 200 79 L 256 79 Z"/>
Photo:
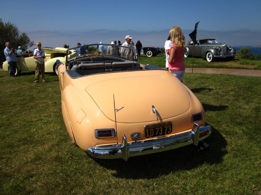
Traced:
<path fill-rule="evenodd" d="M 46 56 L 46 58 L 44 59 L 45 72 L 46 73 L 56 72 L 56 74 L 58 75 L 57 72 L 58 65 L 55 62 L 56 60 L 60 60 L 61 62 L 65 63 L 66 60 L 65 55 L 67 49 L 61 47 L 56 47 L 55 49 L 42 47 L 42 49 L 44 50 Z M 69 59 L 76 57 L 78 55 L 75 50 L 69 50 L 68 53 L 69 53 L 68 55 Z M 17 64 L 17 68 L 15 71 L 15 75 L 23 71 L 35 71 L 35 59 L 32 53 L 22 53 L 16 55 L 16 64 Z M 9 70 L 7 61 L 3 63 L 3 70 L 5 71 Z"/>

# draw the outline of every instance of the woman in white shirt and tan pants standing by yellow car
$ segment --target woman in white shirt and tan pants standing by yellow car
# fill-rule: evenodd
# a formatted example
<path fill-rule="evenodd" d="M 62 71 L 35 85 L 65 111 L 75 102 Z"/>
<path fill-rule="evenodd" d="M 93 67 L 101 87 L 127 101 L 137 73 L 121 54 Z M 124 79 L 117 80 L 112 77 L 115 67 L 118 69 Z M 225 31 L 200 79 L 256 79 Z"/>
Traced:
<path fill-rule="evenodd" d="M 35 58 L 35 83 L 39 82 L 40 78 L 40 71 L 42 73 L 42 82 L 45 82 L 44 80 L 44 72 L 45 72 L 45 67 L 44 67 L 44 59 L 45 59 L 45 53 L 44 50 L 41 49 L 41 43 L 37 42 L 36 43 L 37 49 L 34 51 L 34 58 Z"/>

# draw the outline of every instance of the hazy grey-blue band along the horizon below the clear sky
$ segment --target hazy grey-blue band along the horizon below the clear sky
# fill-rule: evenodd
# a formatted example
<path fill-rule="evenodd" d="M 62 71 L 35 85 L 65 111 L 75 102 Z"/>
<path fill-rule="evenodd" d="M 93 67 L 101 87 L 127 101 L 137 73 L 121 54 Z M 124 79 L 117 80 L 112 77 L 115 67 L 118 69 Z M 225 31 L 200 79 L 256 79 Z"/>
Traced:
<path fill-rule="evenodd" d="M 193 31 L 183 30 L 186 41 L 189 40 L 189 34 Z M 88 31 L 33 31 L 26 32 L 30 40 L 37 42 L 41 41 L 44 47 L 63 47 L 63 44 L 69 44 L 70 48 L 76 47 L 76 43 L 93 44 L 93 43 L 107 43 L 113 40 L 120 40 L 122 43 L 125 41 L 126 35 L 133 37 L 133 42 L 136 44 L 140 40 L 144 47 L 164 47 L 167 40 L 169 29 L 139 32 L 134 30 L 88 30 Z M 220 43 L 224 41 L 231 46 L 238 45 L 260 45 L 261 44 L 261 31 L 250 31 L 248 29 L 240 29 L 235 31 L 197 31 L 197 37 L 213 37 L 217 38 Z"/>

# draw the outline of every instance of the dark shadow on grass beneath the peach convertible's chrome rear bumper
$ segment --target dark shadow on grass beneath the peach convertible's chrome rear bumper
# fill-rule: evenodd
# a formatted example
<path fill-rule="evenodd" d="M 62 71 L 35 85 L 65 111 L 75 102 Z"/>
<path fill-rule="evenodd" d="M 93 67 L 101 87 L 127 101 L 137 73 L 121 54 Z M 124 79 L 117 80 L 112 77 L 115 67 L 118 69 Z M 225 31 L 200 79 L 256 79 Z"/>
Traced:
<path fill-rule="evenodd" d="M 206 124 L 208 125 L 208 124 Z M 126 179 L 152 179 L 180 170 L 191 170 L 204 164 L 219 164 L 226 155 L 227 142 L 217 129 L 212 127 L 211 135 L 204 140 L 210 145 L 198 151 L 193 145 L 169 151 L 122 159 L 96 159 L 106 169 L 115 170 L 114 177 Z"/>

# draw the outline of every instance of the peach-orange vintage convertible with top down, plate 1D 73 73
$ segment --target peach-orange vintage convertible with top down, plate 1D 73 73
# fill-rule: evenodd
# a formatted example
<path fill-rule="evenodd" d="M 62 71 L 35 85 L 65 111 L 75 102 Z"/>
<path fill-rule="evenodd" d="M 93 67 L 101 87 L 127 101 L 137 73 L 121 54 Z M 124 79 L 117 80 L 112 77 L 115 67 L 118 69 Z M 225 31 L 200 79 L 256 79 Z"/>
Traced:
<path fill-rule="evenodd" d="M 211 127 L 197 97 L 169 71 L 135 62 L 124 49 L 126 57 L 97 50 L 59 66 L 62 114 L 73 142 L 92 157 L 124 160 L 189 144 L 207 147 L 202 140 Z"/>

